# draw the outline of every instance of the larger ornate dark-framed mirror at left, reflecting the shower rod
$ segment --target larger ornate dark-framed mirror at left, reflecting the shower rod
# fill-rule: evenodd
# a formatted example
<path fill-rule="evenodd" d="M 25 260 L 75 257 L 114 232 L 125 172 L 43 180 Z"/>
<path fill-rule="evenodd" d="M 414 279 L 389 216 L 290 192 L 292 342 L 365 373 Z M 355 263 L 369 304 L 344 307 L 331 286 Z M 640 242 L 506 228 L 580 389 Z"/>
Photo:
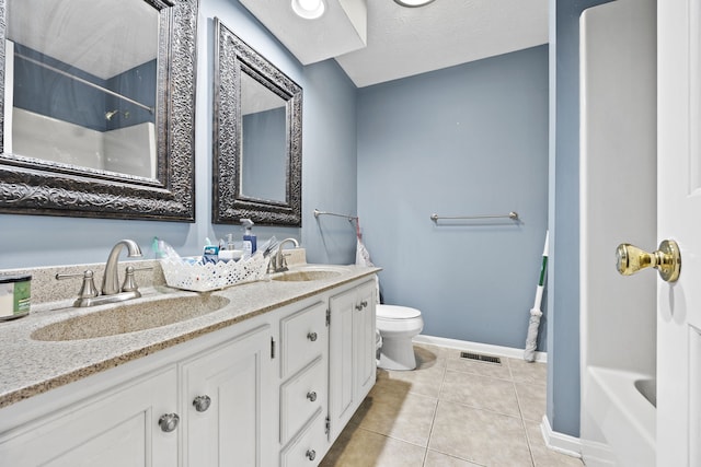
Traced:
<path fill-rule="evenodd" d="M 0 212 L 194 221 L 197 0 L 0 14 Z"/>

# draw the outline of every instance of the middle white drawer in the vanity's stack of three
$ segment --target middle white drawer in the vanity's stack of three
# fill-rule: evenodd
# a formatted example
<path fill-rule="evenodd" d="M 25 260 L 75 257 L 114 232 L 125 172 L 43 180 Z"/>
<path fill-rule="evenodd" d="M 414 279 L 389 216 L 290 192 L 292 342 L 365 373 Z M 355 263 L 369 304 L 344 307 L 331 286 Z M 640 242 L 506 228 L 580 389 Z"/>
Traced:
<path fill-rule="evenodd" d="M 326 407 L 325 359 L 317 358 L 280 387 L 280 443 L 285 445 L 314 412 Z"/>

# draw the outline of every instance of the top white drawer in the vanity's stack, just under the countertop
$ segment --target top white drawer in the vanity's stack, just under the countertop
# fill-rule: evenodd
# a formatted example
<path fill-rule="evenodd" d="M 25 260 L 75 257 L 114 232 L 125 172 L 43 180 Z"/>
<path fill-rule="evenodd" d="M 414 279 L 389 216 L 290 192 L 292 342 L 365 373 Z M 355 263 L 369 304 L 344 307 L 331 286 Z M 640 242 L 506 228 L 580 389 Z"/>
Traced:
<path fill-rule="evenodd" d="M 326 304 L 300 310 L 280 320 L 280 377 L 297 373 L 321 355 L 327 346 Z"/>

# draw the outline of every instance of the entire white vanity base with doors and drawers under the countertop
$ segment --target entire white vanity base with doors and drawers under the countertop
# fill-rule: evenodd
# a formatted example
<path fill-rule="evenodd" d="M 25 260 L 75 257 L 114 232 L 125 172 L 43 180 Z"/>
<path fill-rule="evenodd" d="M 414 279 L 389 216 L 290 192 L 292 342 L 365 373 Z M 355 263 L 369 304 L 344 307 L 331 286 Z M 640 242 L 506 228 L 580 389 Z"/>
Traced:
<path fill-rule="evenodd" d="M 314 467 L 375 383 L 375 283 L 288 300 L 2 408 L 0 466 Z"/>

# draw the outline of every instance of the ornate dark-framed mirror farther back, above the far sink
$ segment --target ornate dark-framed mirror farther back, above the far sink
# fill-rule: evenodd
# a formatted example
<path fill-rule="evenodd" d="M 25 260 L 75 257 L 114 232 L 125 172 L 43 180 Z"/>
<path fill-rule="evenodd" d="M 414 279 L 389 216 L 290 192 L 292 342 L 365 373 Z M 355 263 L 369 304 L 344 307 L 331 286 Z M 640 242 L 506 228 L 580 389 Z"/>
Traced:
<path fill-rule="evenodd" d="M 302 90 L 215 19 L 212 222 L 301 225 Z"/>

